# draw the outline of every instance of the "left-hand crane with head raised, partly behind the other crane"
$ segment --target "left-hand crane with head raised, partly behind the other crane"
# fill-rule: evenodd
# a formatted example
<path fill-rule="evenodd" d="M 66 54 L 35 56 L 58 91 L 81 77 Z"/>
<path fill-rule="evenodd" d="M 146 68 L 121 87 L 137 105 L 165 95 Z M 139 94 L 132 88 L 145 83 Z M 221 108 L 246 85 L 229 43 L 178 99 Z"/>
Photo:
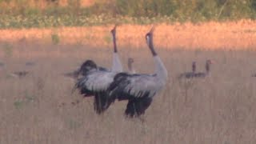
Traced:
<path fill-rule="evenodd" d="M 94 96 L 94 110 L 97 114 L 102 114 L 109 106 L 109 93 L 106 91 L 113 82 L 114 76 L 122 72 L 122 63 L 118 55 L 116 45 L 116 26 L 111 30 L 114 43 L 114 54 L 112 69 L 98 67 L 95 62 L 87 60 L 81 66 L 82 78 L 78 79 L 74 88 L 80 90 L 80 94 Z"/>

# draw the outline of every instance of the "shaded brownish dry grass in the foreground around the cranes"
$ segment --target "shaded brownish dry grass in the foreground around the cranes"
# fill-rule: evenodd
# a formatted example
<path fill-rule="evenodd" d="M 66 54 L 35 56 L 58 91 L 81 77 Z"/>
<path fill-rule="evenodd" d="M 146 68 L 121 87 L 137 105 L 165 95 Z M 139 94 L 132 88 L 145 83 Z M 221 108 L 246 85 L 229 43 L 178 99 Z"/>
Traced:
<path fill-rule="evenodd" d="M 256 142 L 256 79 L 250 77 L 256 72 L 254 51 L 158 49 L 169 79 L 146 110 L 146 122 L 141 122 L 124 117 L 126 102 L 115 102 L 101 116 L 94 114 L 92 98 L 71 95 L 74 82 L 61 75 L 87 58 L 109 67 L 110 47 L 12 46 L 13 54 L 1 59 L 6 68 L 0 71 L 0 143 Z M 123 63 L 132 57 L 137 71 L 154 70 L 145 45 L 140 50 L 119 47 Z M 178 81 L 178 74 L 190 70 L 193 60 L 198 62 L 198 71 L 204 70 L 207 58 L 214 60 L 209 78 L 188 86 Z M 27 61 L 37 63 L 30 67 L 33 75 L 7 76 L 24 70 Z M 76 100 L 80 102 L 72 105 Z"/>

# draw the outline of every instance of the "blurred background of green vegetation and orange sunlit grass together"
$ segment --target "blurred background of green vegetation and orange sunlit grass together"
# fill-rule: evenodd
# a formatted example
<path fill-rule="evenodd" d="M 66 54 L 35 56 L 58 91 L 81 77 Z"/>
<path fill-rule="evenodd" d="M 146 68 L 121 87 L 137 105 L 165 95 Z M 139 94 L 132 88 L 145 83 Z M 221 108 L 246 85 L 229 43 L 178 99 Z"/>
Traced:
<path fill-rule="evenodd" d="M 104 48 L 118 24 L 118 44 L 140 48 L 155 25 L 162 48 L 254 50 L 255 15 L 254 0 L 1 0 L 0 42 Z"/>

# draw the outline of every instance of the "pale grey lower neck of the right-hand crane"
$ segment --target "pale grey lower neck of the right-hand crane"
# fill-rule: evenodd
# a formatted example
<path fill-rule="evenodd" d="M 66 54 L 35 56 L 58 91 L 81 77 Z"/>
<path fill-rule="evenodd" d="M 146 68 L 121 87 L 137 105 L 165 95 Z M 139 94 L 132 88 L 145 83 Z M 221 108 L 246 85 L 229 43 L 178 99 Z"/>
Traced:
<path fill-rule="evenodd" d="M 154 63 L 155 63 L 155 74 L 157 74 L 157 77 L 163 82 L 166 83 L 166 80 L 168 78 L 168 73 L 166 70 L 166 67 L 162 63 L 161 58 L 158 57 L 158 55 L 154 56 Z"/>

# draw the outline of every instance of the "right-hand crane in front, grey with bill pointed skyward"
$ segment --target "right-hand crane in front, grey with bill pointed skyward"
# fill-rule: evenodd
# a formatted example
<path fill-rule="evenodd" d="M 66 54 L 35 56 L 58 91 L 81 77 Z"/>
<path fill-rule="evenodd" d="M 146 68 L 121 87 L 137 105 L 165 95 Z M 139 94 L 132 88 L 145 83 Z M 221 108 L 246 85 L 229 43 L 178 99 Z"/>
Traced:
<path fill-rule="evenodd" d="M 145 113 L 152 99 L 166 85 L 167 70 L 153 45 L 154 27 L 146 34 L 146 43 L 153 54 L 155 74 L 119 73 L 109 87 L 110 102 L 128 100 L 125 114 L 128 117 L 138 117 Z"/>

